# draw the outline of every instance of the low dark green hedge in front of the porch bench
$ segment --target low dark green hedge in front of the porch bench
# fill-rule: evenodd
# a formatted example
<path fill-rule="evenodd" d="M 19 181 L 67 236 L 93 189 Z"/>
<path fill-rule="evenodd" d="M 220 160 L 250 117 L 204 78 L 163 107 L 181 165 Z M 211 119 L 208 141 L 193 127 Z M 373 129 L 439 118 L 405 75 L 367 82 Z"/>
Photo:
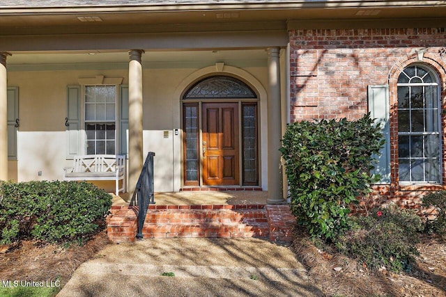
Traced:
<path fill-rule="evenodd" d="M 0 243 L 84 241 L 105 225 L 112 196 L 86 182 L 2 182 Z"/>

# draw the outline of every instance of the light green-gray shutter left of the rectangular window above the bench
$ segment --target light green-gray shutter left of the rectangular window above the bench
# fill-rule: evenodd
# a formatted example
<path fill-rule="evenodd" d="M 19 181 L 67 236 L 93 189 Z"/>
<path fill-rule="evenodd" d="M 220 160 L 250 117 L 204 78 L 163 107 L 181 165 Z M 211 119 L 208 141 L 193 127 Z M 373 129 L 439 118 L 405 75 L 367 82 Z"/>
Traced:
<path fill-rule="evenodd" d="M 67 159 L 81 154 L 81 87 L 67 88 L 67 117 L 65 119 L 67 135 Z"/>

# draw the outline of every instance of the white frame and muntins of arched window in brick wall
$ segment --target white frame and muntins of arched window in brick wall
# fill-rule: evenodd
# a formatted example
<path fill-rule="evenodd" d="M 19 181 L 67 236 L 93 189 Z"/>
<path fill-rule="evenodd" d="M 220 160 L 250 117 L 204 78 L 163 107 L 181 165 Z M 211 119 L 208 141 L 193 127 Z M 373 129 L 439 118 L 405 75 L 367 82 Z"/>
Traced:
<path fill-rule="evenodd" d="M 443 112 L 442 111 L 442 107 L 443 106 L 441 104 L 441 90 L 440 90 L 440 83 L 439 83 L 440 79 L 439 79 L 438 75 L 436 74 L 436 72 L 434 72 L 431 69 L 431 67 L 426 66 L 424 64 L 423 65 L 411 64 L 411 65 L 408 65 L 407 67 L 405 67 L 404 70 L 406 70 L 408 67 L 414 67 L 414 66 L 421 67 L 423 70 L 428 72 L 431 75 L 431 77 L 436 82 L 434 82 L 434 83 L 397 83 L 397 87 L 400 87 L 400 86 L 401 87 L 409 87 L 409 86 L 411 86 L 411 87 L 415 87 L 415 86 L 436 86 L 437 87 L 437 106 L 438 106 L 438 115 L 437 115 L 438 123 L 437 123 L 437 125 L 438 125 L 438 131 L 437 132 L 425 132 L 425 131 L 423 131 L 423 132 L 413 132 L 413 131 L 400 132 L 400 131 L 397 131 L 397 134 L 398 134 L 398 138 L 400 136 L 429 136 L 429 135 L 438 135 L 438 168 L 439 168 L 438 175 L 439 175 L 439 180 L 438 181 L 429 181 L 429 180 L 424 180 L 424 181 L 416 181 L 416 180 L 415 181 L 413 181 L 413 180 L 401 181 L 401 178 L 400 178 L 399 179 L 399 183 L 400 184 L 442 184 L 442 182 L 443 182 L 443 159 L 442 159 L 442 156 L 443 156 L 443 152 L 442 152 L 443 151 L 442 150 L 443 149 L 443 142 L 442 142 L 443 141 L 443 138 L 442 138 L 443 127 L 441 125 L 441 115 L 442 115 L 442 112 Z M 401 75 L 403 73 L 403 71 L 401 71 L 399 75 Z M 397 102 L 398 102 L 398 99 L 399 98 L 398 98 L 398 93 L 397 93 Z M 409 98 L 409 102 L 410 102 L 410 98 Z M 410 105 L 409 105 L 409 107 L 407 109 L 399 109 L 398 104 L 397 104 L 397 110 L 398 111 L 399 110 L 412 111 Z M 426 108 L 424 107 L 423 110 L 426 111 Z M 411 119 L 411 113 L 409 113 L 409 127 L 410 127 L 410 122 L 411 122 L 410 119 Z M 426 126 L 426 122 L 424 122 L 424 128 L 425 128 L 425 126 Z M 409 143 L 409 146 L 410 146 L 410 143 Z M 424 152 L 424 150 L 425 149 L 423 148 L 423 152 Z M 399 152 L 399 148 L 398 148 L 398 152 Z M 425 156 L 423 155 L 421 158 L 425 159 Z M 398 156 L 398 163 L 399 163 L 400 159 L 401 159 L 401 157 Z M 409 160 L 409 170 L 411 171 L 412 168 L 411 168 L 410 161 L 411 161 L 411 159 L 413 159 L 413 157 L 411 157 L 409 155 L 408 158 L 404 158 L 404 159 L 408 159 Z M 410 179 L 412 179 L 412 175 L 410 173 L 409 173 L 409 177 L 410 177 Z M 426 169 L 424 169 L 423 177 L 424 177 L 424 179 L 426 179 Z"/>

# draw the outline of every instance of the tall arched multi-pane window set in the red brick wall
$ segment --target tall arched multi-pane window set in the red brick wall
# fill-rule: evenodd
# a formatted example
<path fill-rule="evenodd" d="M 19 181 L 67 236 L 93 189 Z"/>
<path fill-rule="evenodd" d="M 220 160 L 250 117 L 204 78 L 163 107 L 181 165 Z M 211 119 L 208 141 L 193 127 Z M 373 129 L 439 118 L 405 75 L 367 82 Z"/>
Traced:
<path fill-rule="evenodd" d="M 400 182 L 441 182 L 440 96 L 436 75 L 412 65 L 398 77 Z"/>

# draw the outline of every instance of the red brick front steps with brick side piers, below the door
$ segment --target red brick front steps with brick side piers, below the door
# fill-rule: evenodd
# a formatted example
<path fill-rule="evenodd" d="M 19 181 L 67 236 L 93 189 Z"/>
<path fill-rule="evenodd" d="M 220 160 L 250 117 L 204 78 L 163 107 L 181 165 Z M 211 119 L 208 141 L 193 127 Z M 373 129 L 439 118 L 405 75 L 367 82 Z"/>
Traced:
<path fill-rule="evenodd" d="M 107 232 L 114 242 L 132 242 L 137 209 L 112 207 Z M 150 205 L 144 239 L 177 237 L 256 237 L 291 241 L 295 218 L 288 205 Z"/>

